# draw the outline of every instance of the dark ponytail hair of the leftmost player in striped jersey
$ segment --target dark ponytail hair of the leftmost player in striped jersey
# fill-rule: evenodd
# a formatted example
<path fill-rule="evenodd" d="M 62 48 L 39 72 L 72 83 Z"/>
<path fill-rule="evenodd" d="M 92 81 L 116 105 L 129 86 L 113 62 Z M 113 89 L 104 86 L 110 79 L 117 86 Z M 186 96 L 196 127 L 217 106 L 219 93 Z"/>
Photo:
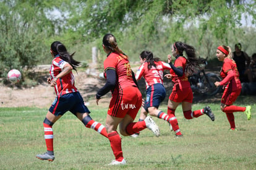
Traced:
<path fill-rule="evenodd" d="M 59 41 L 54 41 L 51 44 L 51 51 L 53 52 L 54 56 L 56 56 L 57 54 L 59 54 L 59 57 L 61 57 L 61 59 L 63 59 L 64 61 L 68 62 L 72 68 L 77 72 L 77 66 L 79 66 L 80 62 L 79 61 L 75 61 L 73 59 L 73 56 L 75 54 L 69 54 L 67 52 L 66 46 L 64 46 L 61 42 Z"/>

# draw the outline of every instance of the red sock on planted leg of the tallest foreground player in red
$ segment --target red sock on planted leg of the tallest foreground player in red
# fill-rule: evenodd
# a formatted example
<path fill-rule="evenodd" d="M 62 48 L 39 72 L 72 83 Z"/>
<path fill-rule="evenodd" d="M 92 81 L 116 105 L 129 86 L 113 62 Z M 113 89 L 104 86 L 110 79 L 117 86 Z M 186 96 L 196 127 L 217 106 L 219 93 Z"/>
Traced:
<path fill-rule="evenodd" d="M 116 131 L 114 131 L 108 134 L 108 139 L 116 161 L 122 161 L 124 157 L 122 156 L 121 137 Z"/>

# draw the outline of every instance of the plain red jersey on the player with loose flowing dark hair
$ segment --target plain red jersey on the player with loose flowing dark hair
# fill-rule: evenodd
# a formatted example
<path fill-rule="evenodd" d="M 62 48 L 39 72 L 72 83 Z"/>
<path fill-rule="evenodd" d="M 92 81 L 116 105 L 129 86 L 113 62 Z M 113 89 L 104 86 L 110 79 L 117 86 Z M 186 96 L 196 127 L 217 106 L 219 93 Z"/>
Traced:
<path fill-rule="evenodd" d="M 174 61 L 175 67 L 177 68 L 181 67 L 183 69 L 182 77 L 177 76 L 173 69 L 170 70 L 170 73 L 173 77 L 174 90 L 176 90 L 177 86 L 179 86 L 179 89 L 190 87 L 189 79 L 185 75 L 186 63 L 187 63 L 187 59 L 183 56 L 177 57 L 177 59 Z"/>

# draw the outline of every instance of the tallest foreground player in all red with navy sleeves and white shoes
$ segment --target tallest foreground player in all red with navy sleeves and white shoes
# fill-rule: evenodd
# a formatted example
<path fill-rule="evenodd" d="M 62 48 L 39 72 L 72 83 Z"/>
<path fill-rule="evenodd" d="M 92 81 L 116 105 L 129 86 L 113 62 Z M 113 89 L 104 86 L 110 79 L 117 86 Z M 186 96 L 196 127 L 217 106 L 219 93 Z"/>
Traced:
<path fill-rule="evenodd" d="M 142 105 L 142 94 L 137 87 L 128 56 L 118 48 L 116 38 L 110 33 L 103 37 L 102 46 L 107 54 L 104 61 L 106 84 L 96 93 L 96 103 L 98 104 L 101 96 L 111 90 L 112 98 L 106 116 L 106 130 L 116 159 L 109 165 L 126 164 L 122 155 L 121 137 L 116 131 L 117 126 L 119 125 L 119 131 L 124 136 L 135 134 L 146 127 L 158 135 L 159 129 L 151 117 L 134 122 Z"/>

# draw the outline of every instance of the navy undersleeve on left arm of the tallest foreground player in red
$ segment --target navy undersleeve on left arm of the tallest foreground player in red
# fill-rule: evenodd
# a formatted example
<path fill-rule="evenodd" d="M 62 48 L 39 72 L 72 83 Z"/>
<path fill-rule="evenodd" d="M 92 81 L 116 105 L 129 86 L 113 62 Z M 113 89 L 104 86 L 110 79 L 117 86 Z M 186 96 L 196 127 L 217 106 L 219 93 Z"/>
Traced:
<path fill-rule="evenodd" d="M 116 70 L 107 69 L 106 80 L 105 85 L 98 91 L 98 93 L 96 93 L 96 99 L 100 99 L 101 96 L 106 95 L 108 91 L 112 90 L 116 86 Z"/>

